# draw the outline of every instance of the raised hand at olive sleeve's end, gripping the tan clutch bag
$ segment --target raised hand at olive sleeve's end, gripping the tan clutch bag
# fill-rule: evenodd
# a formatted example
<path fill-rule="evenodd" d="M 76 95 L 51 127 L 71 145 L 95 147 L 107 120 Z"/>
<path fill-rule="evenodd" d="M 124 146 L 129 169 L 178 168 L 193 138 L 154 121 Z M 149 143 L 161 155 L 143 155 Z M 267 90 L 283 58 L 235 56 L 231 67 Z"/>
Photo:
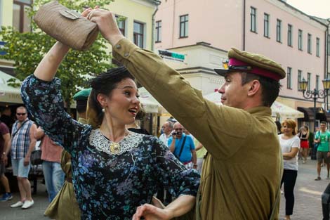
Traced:
<path fill-rule="evenodd" d="M 93 10 L 88 12 L 87 19 L 98 24 L 98 29 L 101 34 L 105 39 L 107 39 L 107 41 L 110 42 L 112 46 L 124 38 L 118 28 L 114 13 L 96 6 Z"/>

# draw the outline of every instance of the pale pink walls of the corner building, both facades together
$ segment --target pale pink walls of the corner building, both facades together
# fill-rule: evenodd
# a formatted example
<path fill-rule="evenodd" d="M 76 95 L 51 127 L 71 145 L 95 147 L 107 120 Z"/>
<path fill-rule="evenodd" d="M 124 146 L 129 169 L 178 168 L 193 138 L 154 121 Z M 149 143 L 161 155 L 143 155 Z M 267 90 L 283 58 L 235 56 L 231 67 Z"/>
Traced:
<path fill-rule="evenodd" d="M 281 81 L 280 96 L 303 99 L 298 91 L 298 70 L 307 79 L 311 73 L 310 89 L 315 88 L 319 75 L 319 89 L 323 89 L 324 48 L 326 27 L 298 10 L 278 0 L 246 0 L 245 50 L 261 53 L 282 65 L 291 67 L 292 89 L 287 89 L 286 79 Z M 257 33 L 250 31 L 250 7 L 257 9 Z M 270 38 L 263 37 L 263 16 L 270 15 Z M 179 39 L 179 16 L 189 15 L 188 37 Z M 282 20 L 282 43 L 276 41 L 277 18 Z M 244 47 L 244 0 L 162 0 L 155 20 L 161 20 L 161 42 L 155 48 L 176 48 L 204 41 L 211 46 L 228 51 L 234 46 Z M 293 26 L 293 46 L 287 45 L 288 23 Z M 298 50 L 298 29 L 303 30 L 303 51 Z M 307 52 L 308 33 L 312 34 L 312 54 Z M 319 57 L 316 56 L 316 38 L 319 38 Z M 220 64 L 219 64 L 220 65 Z"/>

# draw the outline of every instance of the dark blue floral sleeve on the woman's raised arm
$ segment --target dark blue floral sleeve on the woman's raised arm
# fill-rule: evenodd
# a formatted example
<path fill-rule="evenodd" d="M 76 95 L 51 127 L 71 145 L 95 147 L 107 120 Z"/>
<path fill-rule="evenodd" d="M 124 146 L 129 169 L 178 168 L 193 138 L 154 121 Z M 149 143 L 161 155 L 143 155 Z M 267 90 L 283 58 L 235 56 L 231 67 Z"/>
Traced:
<path fill-rule="evenodd" d="M 22 83 L 21 96 L 27 111 L 46 135 L 71 152 L 84 125 L 65 112 L 60 79 L 46 82 L 30 75 Z"/>

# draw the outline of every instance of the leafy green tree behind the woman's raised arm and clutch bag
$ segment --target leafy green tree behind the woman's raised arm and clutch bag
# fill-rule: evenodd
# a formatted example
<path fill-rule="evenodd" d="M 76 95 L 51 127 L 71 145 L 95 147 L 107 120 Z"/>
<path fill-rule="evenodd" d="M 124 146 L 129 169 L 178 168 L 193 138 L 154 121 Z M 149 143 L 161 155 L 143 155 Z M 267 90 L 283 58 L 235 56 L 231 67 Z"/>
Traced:
<path fill-rule="evenodd" d="M 84 6 L 100 6 L 103 7 L 110 4 L 112 0 L 81 0 L 68 1 L 60 0 L 59 3 L 67 6 L 67 8 L 77 11 L 83 11 Z M 46 4 L 49 0 L 34 0 L 32 9 L 29 11 L 29 16 L 37 12 L 33 8 Z M 6 42 L 1 51 L 6 52 L 2 58 L 6 60 L 13 60 L 15 67 L 15 75 L 18 79 L 25 79 L 31 75 L 41 59 L 45 56 L 47 51 L 55 44 L 55 39 L 49 37 L 44 32 L 41 32 L 37 25 L 32 20 L 32 32 L 20 33 L 13 29 L 13 27 L 1 27 L 0 37 L 2 41 Z M 88 79 L 104 72 L 112 67 L 110 65 L 111 56 L 107 54 L 105 49 L 107 42 L 99 34 L 98 39 L 94 42 L 88 51 L 70 50 L 67 56 L 62 61 L 56 77 L 61 79 L 62 96 L 70 106 L 72 103 L 72 96 L 79 90 L 79 87 L 87 87 Z M 11 81 L 11 85 L 18 86 L 18 82 Z M 70 112 L 70 108 L 67 108 Z"/>

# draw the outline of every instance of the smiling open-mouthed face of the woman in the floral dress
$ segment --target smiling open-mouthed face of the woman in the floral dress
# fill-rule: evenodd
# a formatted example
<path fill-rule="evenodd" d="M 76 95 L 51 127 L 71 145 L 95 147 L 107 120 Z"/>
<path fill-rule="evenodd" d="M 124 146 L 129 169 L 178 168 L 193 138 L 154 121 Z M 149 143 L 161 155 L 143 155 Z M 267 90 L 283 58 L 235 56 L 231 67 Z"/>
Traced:
<path fill-rule="evenodd" d="M 133 79 L 126 78 L 117 84 L 106 98 L 105 114 L 109 114 L 114 124 L 131 124 L 140 110 L 138 88 Z"/>

